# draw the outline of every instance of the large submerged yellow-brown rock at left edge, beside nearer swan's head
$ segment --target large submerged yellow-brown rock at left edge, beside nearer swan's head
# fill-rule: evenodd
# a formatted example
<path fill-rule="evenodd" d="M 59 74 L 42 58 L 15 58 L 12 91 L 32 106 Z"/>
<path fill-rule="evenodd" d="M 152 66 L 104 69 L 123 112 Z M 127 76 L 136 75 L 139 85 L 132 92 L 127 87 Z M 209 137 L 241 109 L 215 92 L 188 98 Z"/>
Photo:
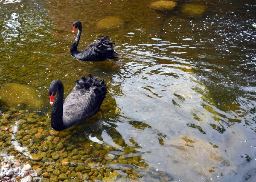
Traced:
<path fill-rule="evenodd" d="M 39 109 L 46 106 L 46 101 L 42 96 L 38 96 L 35 88 L 19 83 L 9 83 L 0 89 L 0 102 L 7 107 Z"/>

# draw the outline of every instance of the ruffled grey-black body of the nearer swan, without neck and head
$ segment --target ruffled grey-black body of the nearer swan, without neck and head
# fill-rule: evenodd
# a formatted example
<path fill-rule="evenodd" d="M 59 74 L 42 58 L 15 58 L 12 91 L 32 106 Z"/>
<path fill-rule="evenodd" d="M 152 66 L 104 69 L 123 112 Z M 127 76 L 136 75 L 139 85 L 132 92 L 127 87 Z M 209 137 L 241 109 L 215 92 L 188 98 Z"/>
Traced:
<path fill-rule="evenodd" d="M 97 80 L 92 75 L 76 81 L 76 86 L 63 104 L 63 122 L 66 126 L 74 125 L 92 117 L 99 111 L 106 97 L 107 88 L 104 80 Z"/>

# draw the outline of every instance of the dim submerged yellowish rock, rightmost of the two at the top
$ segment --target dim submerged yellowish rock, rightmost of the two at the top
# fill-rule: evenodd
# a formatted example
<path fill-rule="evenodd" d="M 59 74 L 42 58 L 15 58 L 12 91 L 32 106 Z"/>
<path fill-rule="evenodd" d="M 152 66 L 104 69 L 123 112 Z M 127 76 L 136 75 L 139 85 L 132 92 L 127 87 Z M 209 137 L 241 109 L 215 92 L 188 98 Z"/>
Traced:
<path fill-rule="evenodd" d="M 205 6 L 201 4 L 183 4 L 181 12 L 188 16 L 200 16 L 204 13 Z"/>

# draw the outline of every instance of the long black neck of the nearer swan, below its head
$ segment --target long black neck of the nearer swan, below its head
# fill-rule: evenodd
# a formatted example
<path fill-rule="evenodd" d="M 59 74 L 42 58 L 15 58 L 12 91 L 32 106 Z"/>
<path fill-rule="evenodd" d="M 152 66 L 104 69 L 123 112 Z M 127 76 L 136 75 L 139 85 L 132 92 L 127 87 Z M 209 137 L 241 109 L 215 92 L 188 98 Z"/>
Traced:
<path fill-rule="evenodd" d="M 64 86 L 61 82 L 58 85 L 58 94 L 52 107 L 51 127 L 56 131 L 61 131 L 66 129 L 63 123 Z"/>

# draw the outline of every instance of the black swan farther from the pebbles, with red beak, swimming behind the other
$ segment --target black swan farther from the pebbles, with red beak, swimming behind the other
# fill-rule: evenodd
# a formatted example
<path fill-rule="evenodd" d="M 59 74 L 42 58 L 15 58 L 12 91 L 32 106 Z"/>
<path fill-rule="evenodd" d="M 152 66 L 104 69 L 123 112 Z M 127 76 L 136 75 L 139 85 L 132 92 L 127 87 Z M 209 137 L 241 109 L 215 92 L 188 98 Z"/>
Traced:
<path fill-rule="evenodd" d="M 82 61 L 104 61 L 118 57 L 118 54 L 113 49 L 115 42 L 113 40 L 110 41 L 108 36 L 100 36 L 98 40 L 90 44 L 87 48 L 82 51 L 78 51 L 77 46 L 82 31 L 81 22 L 76 21 L 73 23 L 73 32 L 77 27 L 78 33 L 72 47 L 70 48 L 71 56 Z"/>

